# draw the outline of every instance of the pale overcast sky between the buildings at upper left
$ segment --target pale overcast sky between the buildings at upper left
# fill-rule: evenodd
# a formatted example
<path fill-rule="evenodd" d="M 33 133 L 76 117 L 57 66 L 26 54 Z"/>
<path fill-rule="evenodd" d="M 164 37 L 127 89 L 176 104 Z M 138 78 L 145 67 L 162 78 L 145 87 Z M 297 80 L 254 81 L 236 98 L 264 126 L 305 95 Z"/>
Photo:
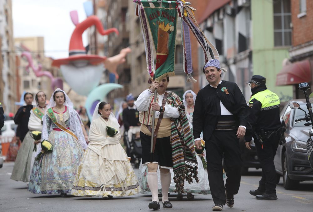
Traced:
<path fill-rule="evenodd" d="M 14 37 L 44 37 L 46 57 L 68 57 L 69 40 L 75 28 L 69 12 L 77 10 L 79 22 L 86 18 L 87 0 L 12 0 Z M 88 44 L 86 32 L 84 46 Z"/>

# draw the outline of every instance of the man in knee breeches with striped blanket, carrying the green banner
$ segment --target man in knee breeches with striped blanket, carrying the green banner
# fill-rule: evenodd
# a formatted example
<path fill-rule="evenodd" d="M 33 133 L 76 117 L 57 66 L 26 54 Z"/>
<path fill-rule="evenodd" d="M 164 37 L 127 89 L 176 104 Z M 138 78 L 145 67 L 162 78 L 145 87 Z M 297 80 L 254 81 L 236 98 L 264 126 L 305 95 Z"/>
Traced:
<path fill-rule="evenodd" d="M 158 198 L 158 166 L 161 172 L 162 203 L 164 208 L 172 208 L 168 201 L 171 173 L 174 169 L 176 191 L 183 193 L 184 181 L 198 181 L 195 149 L 185 113 L 185 107 L 177 94 L 166 91 L 169 77 L 154 81 L 150 89 L 143 91 L 136 101 L 141 122 L 140 139 L 142 164 L 147 165 L 147 182 L 152 193 L 150 209 L 160 209 Z M 157 89 L 156 95 L 155 90 Z M 156 98 L 156 102 L 154 101 Z M 155 115 L 153 113 L 155 111 Z M 153 148 L 151 150 L 152 118 L 155 117 Z"/>

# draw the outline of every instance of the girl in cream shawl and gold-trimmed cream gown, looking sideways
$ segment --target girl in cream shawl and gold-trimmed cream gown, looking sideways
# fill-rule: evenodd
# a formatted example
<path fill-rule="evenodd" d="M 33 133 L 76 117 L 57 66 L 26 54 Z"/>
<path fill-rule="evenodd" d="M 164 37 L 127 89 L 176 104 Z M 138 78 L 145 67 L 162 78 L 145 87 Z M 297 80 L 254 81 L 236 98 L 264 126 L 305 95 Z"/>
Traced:
<path fill-rule="evenodd" d="M 108 127 L 115 129 L 115 135 L 107 133 Z M 139 192 L 137 177 L 120 144 L 119 129 L 110 104 L 98 103 L 90 126 L 90 143 L 78 168 L 72 195 L 102 195 L 108 199 Z"/>

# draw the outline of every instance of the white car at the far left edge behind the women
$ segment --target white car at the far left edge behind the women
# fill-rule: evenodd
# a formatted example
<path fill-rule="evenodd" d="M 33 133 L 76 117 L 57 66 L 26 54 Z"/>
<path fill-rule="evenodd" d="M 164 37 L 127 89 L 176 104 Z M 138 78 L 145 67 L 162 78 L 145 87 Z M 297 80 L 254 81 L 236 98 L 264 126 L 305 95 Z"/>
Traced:
<path fill-rule="evenodd" d="M 2 143 L 8 143 L 12 141 L 12 138 L 15 136 L 17 125 L 13 120 L 4 121 L 4 125 L 1 129 L 0 135 L 0 152 L 2 151 Z M 3 165 L 3 155 L 0 153 L 0 168 Z"/>

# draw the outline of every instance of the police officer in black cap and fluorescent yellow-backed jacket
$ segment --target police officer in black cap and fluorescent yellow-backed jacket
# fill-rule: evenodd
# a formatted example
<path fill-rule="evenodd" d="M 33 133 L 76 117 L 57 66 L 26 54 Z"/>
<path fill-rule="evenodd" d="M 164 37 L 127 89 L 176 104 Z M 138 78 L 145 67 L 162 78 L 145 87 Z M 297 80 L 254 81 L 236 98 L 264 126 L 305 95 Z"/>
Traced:
<path fill-rule="evenodd" d="M 261 161 L 262 178 L 257 190 L 250 190 L 258 200 L 277 200 L 276 172 L 274 156 L 279 144 L 281 129 L 279 116 L 279 97 L 267 89 L 266 79 L 260 75 L 254 75 L 251 81 L 252 96 L 249 101 L 249 123 L 252 131 L 245 136 L 246 147 L 250 150 L 250 141 L 254 137 L 257 155 Z"/>

